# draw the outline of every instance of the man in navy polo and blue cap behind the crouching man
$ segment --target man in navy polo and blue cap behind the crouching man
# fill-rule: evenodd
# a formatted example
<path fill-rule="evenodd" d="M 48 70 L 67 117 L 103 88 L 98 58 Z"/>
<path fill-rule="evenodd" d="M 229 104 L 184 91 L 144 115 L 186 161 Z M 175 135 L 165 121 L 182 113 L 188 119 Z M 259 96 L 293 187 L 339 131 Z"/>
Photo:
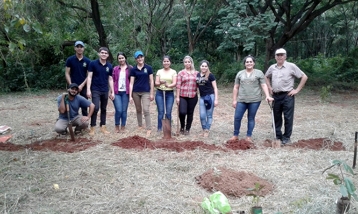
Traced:
<path fill-rule="evenodd" d="M 74 51 L 76 54 L 70 56 L 66 60 L 66 80 L 69 85 L 75 83 L 78 85 L 78 93 L 80 96 L 87 98 L 87 70 L 91 60 L 83 55 L 84 44 L 81 41 L 74 43 Z M 81 108 L 82 115 L 87 116 L 87 108 Z"/>

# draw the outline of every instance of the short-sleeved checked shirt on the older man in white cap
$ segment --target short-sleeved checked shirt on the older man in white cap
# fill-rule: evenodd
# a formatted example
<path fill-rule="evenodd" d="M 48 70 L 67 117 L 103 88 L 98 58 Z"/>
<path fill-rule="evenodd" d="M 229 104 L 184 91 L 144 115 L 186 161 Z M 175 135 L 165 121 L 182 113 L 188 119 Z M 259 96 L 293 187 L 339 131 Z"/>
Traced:
<path fill-rule="evenodd" d="M 272 91 L 275 93 L 287 92 L 293 90 L 294 78 L 301 78 L 304 73 L 297 65 L 291 62 L 284 62 L 280 68 L 278 64 L 269 67 L 265 74 L 268 78 L 272 77 Z"/>

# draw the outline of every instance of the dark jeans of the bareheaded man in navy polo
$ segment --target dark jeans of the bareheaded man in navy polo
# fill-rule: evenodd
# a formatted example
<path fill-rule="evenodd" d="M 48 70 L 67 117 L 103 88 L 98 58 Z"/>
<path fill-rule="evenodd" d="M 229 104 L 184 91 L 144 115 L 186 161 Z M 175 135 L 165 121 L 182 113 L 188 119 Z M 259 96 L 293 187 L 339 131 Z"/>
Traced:
<path fill-rule="evenodd" d="M 107 116 L 107 104 L 108 104 L 108 91 L 101 92 L 96 90 L 91 90 L 92 93 L 92 103 L 94 104 L 94 111 L 91 116 L 91 127 L 96 126 L 97 122 L 97 113 L 99 108 L 101 108 L 101 120 L 99 125 L 106 125 L 106 116 Z"/>

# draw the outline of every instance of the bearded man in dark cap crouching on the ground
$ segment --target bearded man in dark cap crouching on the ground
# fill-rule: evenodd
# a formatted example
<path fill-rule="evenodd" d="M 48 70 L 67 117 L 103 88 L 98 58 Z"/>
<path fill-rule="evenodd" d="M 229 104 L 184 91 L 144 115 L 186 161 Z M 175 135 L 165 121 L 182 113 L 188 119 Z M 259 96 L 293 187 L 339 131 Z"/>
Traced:
<path fill-rule="evenodd" d="M 86 100 L 81 96 L 76 96 L 78 94 L 78 85 L 72 83 L 69 85 L 68 94 L 63 93 L 57 98 L 57 106 L 59 107 L 59 119 L 55 125 L 55 131 L 60 135 L 67 134 L 67 125 L 69 123 L 69 118 L 66 112 L 66 102 L 68 99 L 70 107 L 70 119 L 72 121 L 72 126 L 75 126 L 74 133 L 77 136 L 80 136 L 82 129 L 87 129 L 88 120 L 91 118 L 91 115 L 94 111 L 94 104 Z M 89 107 L 89 112 L 87 116 L 82 116 L 78 114 L 79 108 Z"/>

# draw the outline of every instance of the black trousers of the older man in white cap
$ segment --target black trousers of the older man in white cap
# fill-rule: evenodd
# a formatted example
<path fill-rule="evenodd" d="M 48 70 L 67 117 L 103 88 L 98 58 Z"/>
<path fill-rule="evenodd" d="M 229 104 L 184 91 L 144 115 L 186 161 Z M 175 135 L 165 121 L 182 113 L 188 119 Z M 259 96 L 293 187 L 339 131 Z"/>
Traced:
<path fill-rule="evenodd" d="M 289 140 L 292 134 L 293 113 L 294 113 L 294 96 L 289 97 L 287 94 L 276 95 L 274 104 L 274 118 L 276 128 L 276 139 Z M 285 119 L 285 133 L 282 134 L 282 114 Z"/>

